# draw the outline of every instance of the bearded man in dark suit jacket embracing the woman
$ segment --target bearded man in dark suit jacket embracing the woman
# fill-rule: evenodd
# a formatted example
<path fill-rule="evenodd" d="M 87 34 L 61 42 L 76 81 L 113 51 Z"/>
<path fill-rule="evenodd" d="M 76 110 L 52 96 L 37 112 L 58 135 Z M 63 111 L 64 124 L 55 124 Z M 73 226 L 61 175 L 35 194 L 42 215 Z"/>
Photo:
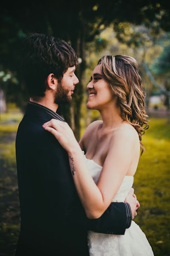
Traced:
<path fill-rule="evenodd" d="M 68 154 L 42 125 L 71 102 L 78 61 L 65 41 L 34 33 L 24 41 L 21 76 L 30 101 L 16 138 L 21 226 L 16 256 L 88 256 L 87 230 L 123 235 L 137 209 L 133 190 L 88 219 L 71 176 Z M 138 204 L 137 204 L 138 206 Z"/>

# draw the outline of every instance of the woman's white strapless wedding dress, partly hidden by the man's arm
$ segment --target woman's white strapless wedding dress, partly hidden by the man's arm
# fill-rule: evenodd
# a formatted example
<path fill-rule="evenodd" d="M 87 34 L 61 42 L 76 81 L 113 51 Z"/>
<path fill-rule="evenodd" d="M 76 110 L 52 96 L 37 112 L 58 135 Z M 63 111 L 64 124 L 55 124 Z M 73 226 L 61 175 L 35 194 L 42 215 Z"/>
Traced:
<path fill-rule="evenodd" d="M 82 151 L 84 154 L 84 151 Z M 84 154 L 85 157 L 85 154 Z M 97 183 L 102 166 L 85 157 L 88 170 Z M 125 176 L 112 202 L 124 202 L 133 186 L 133 176 Z M 140 227 L 132 221 L 125 235 L 102 234 L 88 231 L 90 256 L 153 256 L 153 250 Z"/>

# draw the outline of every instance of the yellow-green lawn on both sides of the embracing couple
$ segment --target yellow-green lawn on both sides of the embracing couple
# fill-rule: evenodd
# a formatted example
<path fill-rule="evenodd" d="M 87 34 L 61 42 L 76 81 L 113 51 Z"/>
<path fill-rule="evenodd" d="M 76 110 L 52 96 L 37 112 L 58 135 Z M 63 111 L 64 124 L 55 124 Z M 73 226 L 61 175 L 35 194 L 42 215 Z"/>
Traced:
<path fill-rule="evenodd" d="M 11 115 L 11 114 L 10 114 Z M 0 255 L 14 255 L 20 229 L 20 212 L 17 193 L 14 136 L 22 118 L 13 113 L 1 115 L 0 161 Z M 15 116 L 15 117 L 14 117 Z M 169 120 L 170 121 L 170 120 Z M 10 137 L 6 142 L 6 138 Z M 5 139 L 4 139 L 5 138 Z M 147 236 L 155 256 L 170 255 L 170 122 L 168 119 L 150 118 L 150 128 L 142 139 L 146 151 L 139 161 L 134 177 L 135 194 L 141 204 L 135 221 Z M 0 164 L 1 164 L 0 163 Z M 2 199 L 2 200 L 1 200 Z"/>

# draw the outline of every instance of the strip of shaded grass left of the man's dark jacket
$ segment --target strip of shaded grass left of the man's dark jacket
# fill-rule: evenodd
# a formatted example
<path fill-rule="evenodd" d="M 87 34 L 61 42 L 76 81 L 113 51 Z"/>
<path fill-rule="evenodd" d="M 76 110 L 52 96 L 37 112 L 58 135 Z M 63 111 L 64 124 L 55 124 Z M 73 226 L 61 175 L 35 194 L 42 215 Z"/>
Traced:
<path fill-rule="evenodd" d="M 0 255 L 14 255 L 20 232 L 15 136 L 22 117 L 15 105 L 0 114 Z"/>

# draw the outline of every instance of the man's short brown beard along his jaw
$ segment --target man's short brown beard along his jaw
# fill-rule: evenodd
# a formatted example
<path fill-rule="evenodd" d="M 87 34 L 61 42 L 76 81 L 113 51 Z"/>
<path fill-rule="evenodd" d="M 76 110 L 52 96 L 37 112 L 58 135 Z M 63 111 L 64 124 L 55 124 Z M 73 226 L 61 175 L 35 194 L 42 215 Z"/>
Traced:
<path fill-rule="evenodd" d="M 57 91 L 54 95 L 54 103 L 60 105 L 62 103 L 70 103 L 72 98 L 69 95 L 70 89 L 64 88 L 63 84 L 58 82 Z"/>

